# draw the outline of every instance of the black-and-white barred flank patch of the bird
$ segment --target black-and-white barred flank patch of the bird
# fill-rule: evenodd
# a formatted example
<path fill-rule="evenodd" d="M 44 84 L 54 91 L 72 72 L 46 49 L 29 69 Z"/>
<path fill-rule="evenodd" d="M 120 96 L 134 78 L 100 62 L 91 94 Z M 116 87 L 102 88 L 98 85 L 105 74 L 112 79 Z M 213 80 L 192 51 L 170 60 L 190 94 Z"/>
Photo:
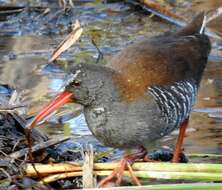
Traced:
<path fill-rule="evenodd" d="M 189 116 L 197 95 L 197 85 L 193 81 L 175 82 L 168 87 L 151 86 L 163 118 L 170 128 L 178 127 Z M 166 127 L 166 132 L 171 130 Z"/>

